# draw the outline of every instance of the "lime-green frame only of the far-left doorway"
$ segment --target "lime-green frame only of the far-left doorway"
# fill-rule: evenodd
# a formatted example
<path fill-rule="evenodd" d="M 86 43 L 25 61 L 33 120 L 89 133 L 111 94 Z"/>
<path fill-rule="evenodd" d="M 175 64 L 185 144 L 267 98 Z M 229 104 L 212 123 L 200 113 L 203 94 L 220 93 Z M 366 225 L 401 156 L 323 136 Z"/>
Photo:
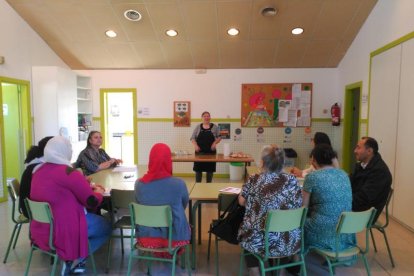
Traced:
<path fill-rule="evenodd" d="M 3 83 L 10 83 L 20 86 L 25 86 L 25 93 L 22 94 L 22 102 L 21 102 L 21 108 L 23 110 L 23 116 L 26 116 L 25 120 L 27 120 L 27 139 L 26 139 L 26 149 L 29 149 L 29 147 L 32 144 L 32 111 L 31 111 L 31 101 L 30 101 L 30 82 L 25 80 L 19 80 L 19 79 L 13 79 L 13 78 L 7 78 L 7 77 L 0 77 L 0 106 L 3 106 L 3 90 L 2 90 L 2 84 Z M 24 119 L 24 118 L 23 118 Z M 0 132 L 1 132 L 1 148 L 5 149 L 6 147 L 6 139 L 5 139 L 5 133 L 4 133 L 4 116 L 3 116 L 3 108 L 1 108 L 0 112 Z M 2 160 L 2 183 L 3 183 L 3 196 L 0 197 L 0 202 L 7 201 L 7 179 L 6 179 L 6 154 L 5 151 L 1 151 L 1 160 Z"/>

